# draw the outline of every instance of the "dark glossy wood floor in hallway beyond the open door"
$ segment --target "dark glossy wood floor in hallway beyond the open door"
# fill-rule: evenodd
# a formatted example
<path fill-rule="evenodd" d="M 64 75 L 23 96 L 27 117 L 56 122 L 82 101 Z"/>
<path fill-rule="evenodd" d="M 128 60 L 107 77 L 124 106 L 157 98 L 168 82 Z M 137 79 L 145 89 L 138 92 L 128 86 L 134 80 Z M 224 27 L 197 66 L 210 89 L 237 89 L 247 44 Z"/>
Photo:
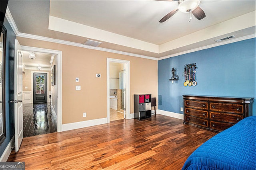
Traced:
<path fill-rule="evenodd" d="M 57 118 L 49 104 L 23 104 L 23 137 L 57 131 Z"/>

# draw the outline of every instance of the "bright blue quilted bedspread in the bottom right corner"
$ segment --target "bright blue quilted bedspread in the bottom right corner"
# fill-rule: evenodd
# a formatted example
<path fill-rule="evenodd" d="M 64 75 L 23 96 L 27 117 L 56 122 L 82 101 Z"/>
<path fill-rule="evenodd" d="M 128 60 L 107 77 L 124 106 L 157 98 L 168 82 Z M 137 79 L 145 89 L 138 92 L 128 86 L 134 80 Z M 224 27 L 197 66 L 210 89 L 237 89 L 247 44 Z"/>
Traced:
<path fill-rule="evenodd" d="M 256 170 L 256 116 L 206 141 L 188 157 L 182 170 Z"/>

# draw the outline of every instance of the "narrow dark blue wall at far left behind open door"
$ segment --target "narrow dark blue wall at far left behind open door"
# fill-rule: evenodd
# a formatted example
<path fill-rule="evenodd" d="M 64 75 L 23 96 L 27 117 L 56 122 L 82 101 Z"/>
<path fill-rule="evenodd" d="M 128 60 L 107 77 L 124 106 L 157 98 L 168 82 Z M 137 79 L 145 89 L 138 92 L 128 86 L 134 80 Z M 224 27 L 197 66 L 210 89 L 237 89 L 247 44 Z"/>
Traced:
<path fill-rule="evenodd" d="M 12 86 L 10 86 L 10 71 L 9 71 L 9 61 L 10 58 L 12 60 L 14 59 L 14 40 L 16 39 L 16 35 L 14 31 L 12 30 L 12 27 L 6 20 L 4 19 L 4 27 L 7 29 L 6 31 L 6 139 L 5 141 L 0 145 L 0 156 L 2 156 L 4 150 L 6 149 L 7 145 L 9 144 L 10 140 L 14 136 L 14 111 L 13 109 L 10 109 L 9 106 L 9 92 L 12 89 Z M 14 76 L 14 74 L 13 74 Z M 11 88 L 11 89 L 10 89 Z M 13 106 L 14 107 L 14 106 Z"/>

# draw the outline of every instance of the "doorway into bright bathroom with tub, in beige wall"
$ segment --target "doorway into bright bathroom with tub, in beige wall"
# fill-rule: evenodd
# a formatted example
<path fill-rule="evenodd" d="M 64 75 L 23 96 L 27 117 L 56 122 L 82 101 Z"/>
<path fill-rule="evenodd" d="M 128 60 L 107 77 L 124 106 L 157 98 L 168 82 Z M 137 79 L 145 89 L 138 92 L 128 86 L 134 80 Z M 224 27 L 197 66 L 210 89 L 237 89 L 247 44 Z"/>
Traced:
<path fill-rule="evenodd" d="M 129 64 L 129 61 L 108 59 L 108 122 L 129 118 Z"/>

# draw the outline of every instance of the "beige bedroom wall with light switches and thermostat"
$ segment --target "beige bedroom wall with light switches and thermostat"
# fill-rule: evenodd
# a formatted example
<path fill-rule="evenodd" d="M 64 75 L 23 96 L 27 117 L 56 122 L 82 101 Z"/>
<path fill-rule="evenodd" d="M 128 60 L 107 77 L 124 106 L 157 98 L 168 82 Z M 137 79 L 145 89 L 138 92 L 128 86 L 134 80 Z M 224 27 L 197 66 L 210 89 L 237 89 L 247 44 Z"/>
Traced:
<path fill-rule="evenodd" d="M 130 61 L 130 112 L 134 94 L 158 97 L 158 63 L 127 55 L 18 37 L 21 45 L 62 51 L 62 124 L 107 117 L 107 58 Z M 96 78 L 96 73 L 101 78 Z M 79 77 L 79 82 L 75 78 Z M 81 90 L 76 91 L 75 86 Z M 82 117 L 83 112 L 87 117 Z"/>

